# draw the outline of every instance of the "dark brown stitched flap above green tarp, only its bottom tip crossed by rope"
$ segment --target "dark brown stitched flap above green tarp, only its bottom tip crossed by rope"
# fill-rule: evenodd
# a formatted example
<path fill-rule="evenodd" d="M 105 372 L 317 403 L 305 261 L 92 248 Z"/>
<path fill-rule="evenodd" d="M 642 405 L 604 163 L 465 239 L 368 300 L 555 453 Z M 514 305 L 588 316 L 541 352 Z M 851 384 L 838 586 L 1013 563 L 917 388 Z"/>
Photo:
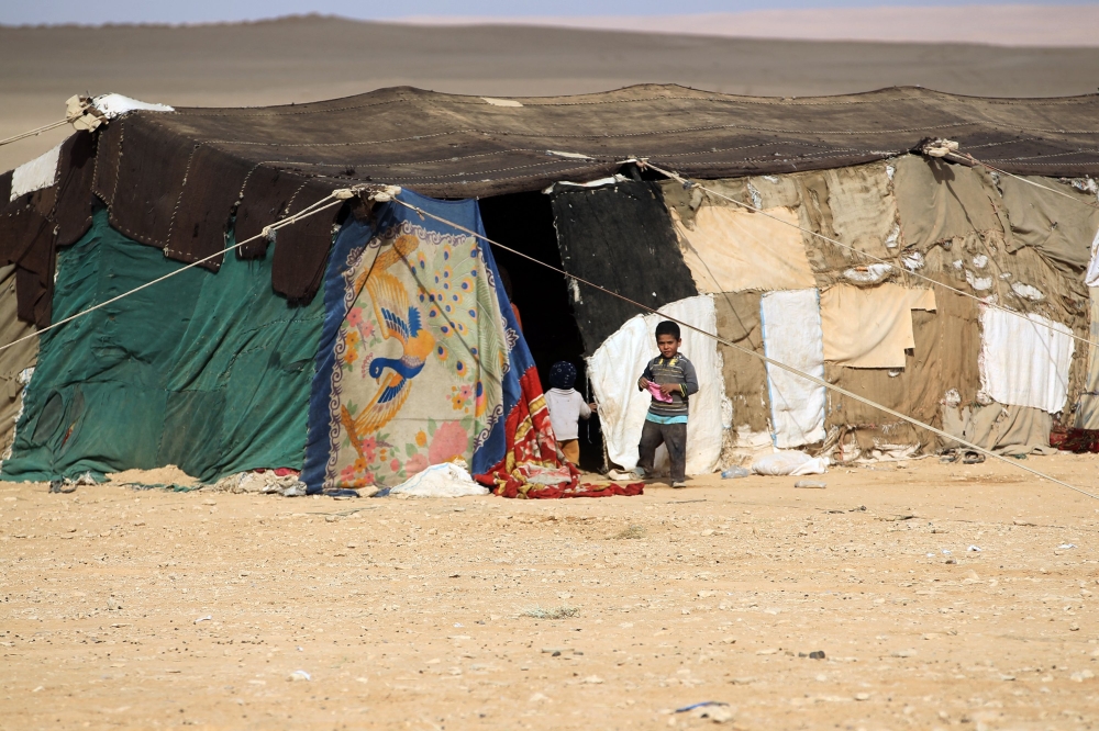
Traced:
<path fill-rule="evenodd" d="M 225 248 L 233 207 L 253 165 L 203 146 L 195 151 L 168 232 L 167 257 L 191 263 Z M 218 271 L 223 256 L 200 265 Z"/>

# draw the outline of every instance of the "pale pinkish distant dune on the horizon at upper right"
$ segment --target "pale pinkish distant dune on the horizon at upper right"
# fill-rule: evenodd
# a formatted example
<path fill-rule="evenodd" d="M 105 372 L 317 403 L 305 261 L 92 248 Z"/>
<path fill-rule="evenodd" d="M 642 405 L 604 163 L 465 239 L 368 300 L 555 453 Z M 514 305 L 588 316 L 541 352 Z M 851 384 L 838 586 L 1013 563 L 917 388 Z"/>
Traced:
<path fill-rule="evenodd" d="M 799 41 L 1099 46 L 1099 5 L 828 8 L 675 15 L 486 18 L 420 15 L 429 25 L 520 24 Z"/>

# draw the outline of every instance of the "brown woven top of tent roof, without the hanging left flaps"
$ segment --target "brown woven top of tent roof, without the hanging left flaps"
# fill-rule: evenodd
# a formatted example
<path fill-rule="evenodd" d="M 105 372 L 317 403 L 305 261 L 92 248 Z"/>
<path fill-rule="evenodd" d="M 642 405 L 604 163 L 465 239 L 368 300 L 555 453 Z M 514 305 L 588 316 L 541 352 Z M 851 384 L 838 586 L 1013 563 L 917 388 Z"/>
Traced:
<path fill-rule="evenodd" d="M 1097 112 L 1099 94 L 980 99 L 913 87 L 782 99 L 644 85 L 507 100 L 399 87 L 290 106 L 138 113 L 126 124 L 155 127 L 149 142 L 186 139 L 338 184 L 470 198 L 603 175 L 631 156 L 725 178 L 866 162 L 924 137 L 957 139 L 1011 172 L 1097 173 Z"/>

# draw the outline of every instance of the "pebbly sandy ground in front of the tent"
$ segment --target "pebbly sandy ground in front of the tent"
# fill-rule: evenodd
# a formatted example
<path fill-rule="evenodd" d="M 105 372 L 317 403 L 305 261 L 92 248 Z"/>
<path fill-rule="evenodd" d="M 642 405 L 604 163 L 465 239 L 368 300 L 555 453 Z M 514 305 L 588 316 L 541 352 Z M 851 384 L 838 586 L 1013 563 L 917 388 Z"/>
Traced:
<path fill-rule="evenodd" d="M 1094 457 L 1028 464 L 1095 484 Z M 684 729 L 712 700 L 723 728 L 1094 728 L 1099 503 L 1003 464 L 823 479 L 560 502 L 2 483 L 0 727 Z"/>

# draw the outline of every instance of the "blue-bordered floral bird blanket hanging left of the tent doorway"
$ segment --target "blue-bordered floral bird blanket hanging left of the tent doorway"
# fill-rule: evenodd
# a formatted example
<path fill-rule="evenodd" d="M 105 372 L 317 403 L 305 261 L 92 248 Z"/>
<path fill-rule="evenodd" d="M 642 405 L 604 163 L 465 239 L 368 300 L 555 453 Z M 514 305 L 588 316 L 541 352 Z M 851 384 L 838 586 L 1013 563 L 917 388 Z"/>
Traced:
<path fill-rule="evenodd" d="M 484 235 L 476 201 L 400 200 Z M 510 472 L 541 461 L 546 442 L 554 454 L 498 277 L 477 238 L 403 205 L 345 223 L 326 272 L 302 474 L 311 491 L 395 485 L 455 458 L 477 475 Z"/>

